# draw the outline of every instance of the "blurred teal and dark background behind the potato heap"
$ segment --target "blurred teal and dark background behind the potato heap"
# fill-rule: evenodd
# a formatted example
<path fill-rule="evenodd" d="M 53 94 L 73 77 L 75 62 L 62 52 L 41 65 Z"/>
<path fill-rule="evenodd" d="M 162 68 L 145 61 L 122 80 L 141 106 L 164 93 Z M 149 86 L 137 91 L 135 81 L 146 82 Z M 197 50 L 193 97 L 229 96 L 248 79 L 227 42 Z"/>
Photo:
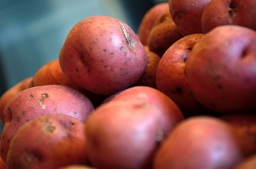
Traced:
<path fill-rule="evenodd" d="M 162 2 L 165 0 L 0 0 L 0 95 L 58 58 L 76 22 L 88 16 L 112 16 L 137 33 L 145 12 Z"/>

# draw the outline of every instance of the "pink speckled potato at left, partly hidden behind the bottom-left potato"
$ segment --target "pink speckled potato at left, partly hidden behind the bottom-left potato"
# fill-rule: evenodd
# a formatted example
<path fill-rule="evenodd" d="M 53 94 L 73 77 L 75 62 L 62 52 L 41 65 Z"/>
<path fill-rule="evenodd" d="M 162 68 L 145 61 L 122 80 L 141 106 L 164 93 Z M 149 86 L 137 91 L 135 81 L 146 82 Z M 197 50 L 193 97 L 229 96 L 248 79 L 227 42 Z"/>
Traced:
<path fill-rule="evenodd" d="M 87 96 L 67 86 L 36 86 L 18 92 L 4 109 L 5 125 L 0 142 L 3 161 L 16 130 L 31 119 L 61 113 L 85 121 L 93 110 Z"/>

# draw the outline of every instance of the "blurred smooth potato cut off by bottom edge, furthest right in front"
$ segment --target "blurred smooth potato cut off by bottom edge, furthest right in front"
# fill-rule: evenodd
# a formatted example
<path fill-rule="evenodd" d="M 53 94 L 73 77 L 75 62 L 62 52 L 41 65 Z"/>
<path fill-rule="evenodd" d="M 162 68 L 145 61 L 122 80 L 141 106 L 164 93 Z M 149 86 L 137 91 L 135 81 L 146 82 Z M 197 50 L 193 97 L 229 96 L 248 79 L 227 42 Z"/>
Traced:
<path fill-rule="evenodd" d="M 160 146 L 154 169 L 233 168 L 242 160 L 229 125 L 214 117 L 197 116 L 178 124 Z"/>

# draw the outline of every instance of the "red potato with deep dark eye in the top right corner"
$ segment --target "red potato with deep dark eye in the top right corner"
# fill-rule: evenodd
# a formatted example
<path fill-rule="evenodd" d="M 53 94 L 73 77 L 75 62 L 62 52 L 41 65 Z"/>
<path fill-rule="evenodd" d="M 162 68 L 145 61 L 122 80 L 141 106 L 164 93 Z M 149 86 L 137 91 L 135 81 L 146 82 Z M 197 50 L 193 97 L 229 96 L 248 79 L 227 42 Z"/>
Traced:
<path fill-rule="evenodd" d="M 208 33 L 216 26 L 235 24 L 256 31 L 255 0 L 212 0 L 201 18 L 203 33 Z"/>

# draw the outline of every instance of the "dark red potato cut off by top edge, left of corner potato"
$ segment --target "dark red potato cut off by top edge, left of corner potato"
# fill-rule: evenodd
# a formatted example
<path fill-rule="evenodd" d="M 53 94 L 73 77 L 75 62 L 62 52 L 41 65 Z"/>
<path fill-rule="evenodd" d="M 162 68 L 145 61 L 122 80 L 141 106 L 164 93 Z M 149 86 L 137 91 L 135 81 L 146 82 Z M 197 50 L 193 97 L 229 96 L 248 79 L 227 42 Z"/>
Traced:
<path fill-rule="evenodd" d="M 201 17 L 211 0 L 169 0 L 169 10 L 177 29 L 184 36 L 203 33 Z M 216 9 L 216 11 L 218 8 Z"/>

